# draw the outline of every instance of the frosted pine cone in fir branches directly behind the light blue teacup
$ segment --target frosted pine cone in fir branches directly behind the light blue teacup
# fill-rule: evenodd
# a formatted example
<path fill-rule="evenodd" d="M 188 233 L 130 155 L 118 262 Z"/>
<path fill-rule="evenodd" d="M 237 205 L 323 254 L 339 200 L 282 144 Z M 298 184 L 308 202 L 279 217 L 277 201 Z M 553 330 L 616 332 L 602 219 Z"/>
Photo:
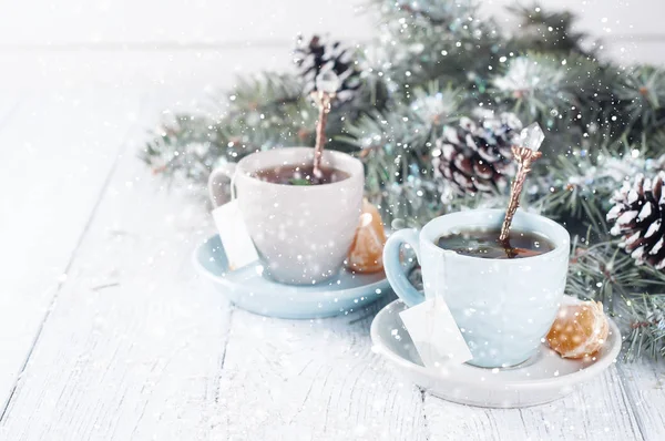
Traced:
<path fill-rule="evenodd" d="M 468 117 L 458 127 L 446 126 L 432 152 L 434 176 L 459 194 L 504 188 L 515 172 L 511 146 L 521 129 L 513 113 L 487 117 L 481 126 Z"/>

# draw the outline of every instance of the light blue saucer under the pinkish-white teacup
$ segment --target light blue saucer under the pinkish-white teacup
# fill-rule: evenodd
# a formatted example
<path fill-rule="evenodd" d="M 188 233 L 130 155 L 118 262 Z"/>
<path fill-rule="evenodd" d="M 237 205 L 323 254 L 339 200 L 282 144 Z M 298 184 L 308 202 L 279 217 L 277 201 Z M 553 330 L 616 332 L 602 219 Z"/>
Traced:
<path fill-rule="evenodd" d="M 364 275 L 341 269 L 337 277 L 311 286 L 265 278 L 259 263 L 229 271 L 217 235 L 196 248 L 194 264 L 236 306 L 268 317 L 307 319 L 348 314 L 390 290 L 383 271 Z"/>

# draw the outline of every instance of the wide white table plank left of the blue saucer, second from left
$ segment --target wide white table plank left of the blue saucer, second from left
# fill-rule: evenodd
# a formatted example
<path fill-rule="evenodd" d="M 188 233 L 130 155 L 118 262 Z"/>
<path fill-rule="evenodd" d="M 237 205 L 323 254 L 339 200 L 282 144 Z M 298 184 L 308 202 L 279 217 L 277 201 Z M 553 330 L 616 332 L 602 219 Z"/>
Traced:
<path fill-rule="evenodd" d="M 134 157 L 74 256 L 0 439 L 202 439 L 215 414 L 228 306 L 197 280 L 201 202 Z"/>

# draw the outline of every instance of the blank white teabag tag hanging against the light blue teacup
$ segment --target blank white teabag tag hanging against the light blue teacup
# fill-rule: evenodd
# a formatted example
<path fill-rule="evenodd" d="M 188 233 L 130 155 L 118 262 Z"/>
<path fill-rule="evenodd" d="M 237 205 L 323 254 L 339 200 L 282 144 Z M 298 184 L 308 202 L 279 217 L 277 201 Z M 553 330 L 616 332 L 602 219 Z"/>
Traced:
<path fill-rule="evenodd" d="M 399 316 L 427 368 L 461 365 L 473 358 L 442 299 L 424 300 Z"/>

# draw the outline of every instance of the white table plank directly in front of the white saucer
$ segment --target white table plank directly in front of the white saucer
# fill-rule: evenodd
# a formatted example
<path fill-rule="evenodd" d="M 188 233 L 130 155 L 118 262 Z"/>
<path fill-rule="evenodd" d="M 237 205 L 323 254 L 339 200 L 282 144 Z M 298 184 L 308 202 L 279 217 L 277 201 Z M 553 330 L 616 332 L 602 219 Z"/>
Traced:
<path fill-rule="evenodd" d="M 615 367 L 572 394 L 523 409 L 480 409 L 426 394 L 432 440 L 635 440 L 635 414 Z"/>

